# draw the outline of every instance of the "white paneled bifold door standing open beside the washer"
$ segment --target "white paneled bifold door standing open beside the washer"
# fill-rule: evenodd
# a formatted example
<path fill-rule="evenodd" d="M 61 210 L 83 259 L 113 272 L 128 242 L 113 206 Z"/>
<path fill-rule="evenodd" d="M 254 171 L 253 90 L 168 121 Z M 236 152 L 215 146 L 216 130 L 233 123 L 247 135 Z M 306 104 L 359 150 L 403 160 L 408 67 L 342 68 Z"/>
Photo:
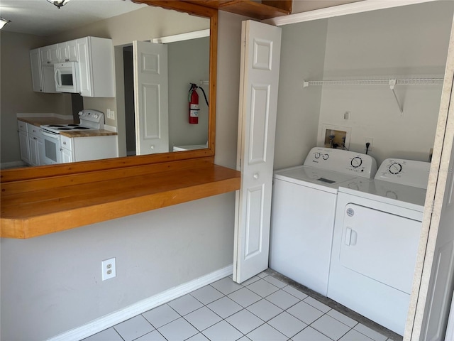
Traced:
<path fill-rule="evenodd" d="M 281 28 L 243 21 L 233 280 L 267 269 Z"/>

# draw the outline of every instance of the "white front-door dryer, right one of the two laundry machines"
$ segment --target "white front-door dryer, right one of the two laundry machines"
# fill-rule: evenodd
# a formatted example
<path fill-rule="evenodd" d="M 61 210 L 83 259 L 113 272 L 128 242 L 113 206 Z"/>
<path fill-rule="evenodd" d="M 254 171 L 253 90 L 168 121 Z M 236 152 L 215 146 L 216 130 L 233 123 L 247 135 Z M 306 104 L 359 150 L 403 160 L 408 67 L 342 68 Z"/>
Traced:
<path fill-rule="evenodd" d="M 430 163 L 383 161 L 338 191 L 328 297 L 404 334 Z"/>

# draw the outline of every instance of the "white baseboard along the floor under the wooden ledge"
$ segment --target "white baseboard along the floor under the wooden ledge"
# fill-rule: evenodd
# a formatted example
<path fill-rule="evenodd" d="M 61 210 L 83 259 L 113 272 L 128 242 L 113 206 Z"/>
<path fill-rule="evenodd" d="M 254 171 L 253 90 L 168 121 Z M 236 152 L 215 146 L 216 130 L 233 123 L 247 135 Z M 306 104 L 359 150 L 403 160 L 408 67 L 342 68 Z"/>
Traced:
<path fill-rule="evenodd" d="M 133 305 L 130 305 L 126 308 L 111 313 L 102 318 L 94 320 L 86 325 L 82 325 L 78 328 L 68 330 L 60 335 L 50 338 L 48 341 L 79 341 L 85 337 L 96 334 L 96 332 L 101 332 L 107 328 L 111 328 L 113 325 L 133 318 L 135 315 L 145 313 L 150 309 L 156 308 L 159 305 L 175 300 L 180 296 L 186 295 L 196 289 L 199 289 L 203 286 L 207 286 L 210 283 L 218 281 L 218 279 L 229 276 L 233 273 L 233 265 L 226 266 L 223 269 L 212 272 L 200 278 L 196 278 L 193 281 L 189 281 L 175 288 L 163 291 L 158 293 L 155 296 L 146 298 L 143 301 L 139 301 Z"/>

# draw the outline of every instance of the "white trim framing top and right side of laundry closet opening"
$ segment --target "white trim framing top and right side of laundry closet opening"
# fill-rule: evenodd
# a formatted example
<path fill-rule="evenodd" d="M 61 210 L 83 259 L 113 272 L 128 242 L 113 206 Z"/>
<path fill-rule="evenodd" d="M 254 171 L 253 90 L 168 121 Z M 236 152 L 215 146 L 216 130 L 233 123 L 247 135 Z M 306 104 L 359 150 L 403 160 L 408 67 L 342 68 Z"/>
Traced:
<path fill-rule="evenodd" d="M 401 0 L 401 1 L 358 1 L 351 4 L 316 9 L 289 16 L 266 19 L 262 22 L 276 26 L 291 23 L 302 23 L 335 16 L 345 16 L 353 13 L 363 13 L 379 9 L 390 9 L 398 6 L 422 4 L 438 0 Z M 453 18 L 454 19 L 454 18 Z M 454 20 L 453 20 L 454 24 Z M 417 341 L 421 335 L 424 309 L 426 307 L 428 286 L 431 277 L 433 256 L 438 235 L 441 207 L 448 173 L 443 171 L 443 165 L 450 162 L 450 150 L 454 139 L 454 26 L 448 46 L 447 63 L 443 82 L 443 95 L 438 112 L 436 139 L 433 145 L 431 173 L 428 179 L 426 202 L 424 205 L 423 226 L 419 242 L 419 252 L 416 259 L 413 288 L 410 297 L 409 313 L 407 315 L 404 341 Z M 301 80 L 302 82 L 302 80 Z M 454 323 L 453 320 L 450 323 Z M 453 326 L 448 325 L 448 329 Z"/>

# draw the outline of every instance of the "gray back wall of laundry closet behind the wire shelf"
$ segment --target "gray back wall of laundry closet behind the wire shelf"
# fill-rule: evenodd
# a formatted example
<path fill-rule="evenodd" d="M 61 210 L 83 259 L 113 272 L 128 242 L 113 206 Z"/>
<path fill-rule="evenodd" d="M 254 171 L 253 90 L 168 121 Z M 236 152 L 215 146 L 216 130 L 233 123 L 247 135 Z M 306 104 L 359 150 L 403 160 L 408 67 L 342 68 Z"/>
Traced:
<path fill-rule="evenodd" d="M 452 1 L 435 1 L 329 19 L 324 79 L 443 78 L 453 9 Z M 372 138 L 370 155 L 379 164 L 428 161 L 441 87 L 396 87 L 401 114 L 387 86 L 324 86 L 319 124 L 351 127 L 353 151 L 365 152 Z"/>

